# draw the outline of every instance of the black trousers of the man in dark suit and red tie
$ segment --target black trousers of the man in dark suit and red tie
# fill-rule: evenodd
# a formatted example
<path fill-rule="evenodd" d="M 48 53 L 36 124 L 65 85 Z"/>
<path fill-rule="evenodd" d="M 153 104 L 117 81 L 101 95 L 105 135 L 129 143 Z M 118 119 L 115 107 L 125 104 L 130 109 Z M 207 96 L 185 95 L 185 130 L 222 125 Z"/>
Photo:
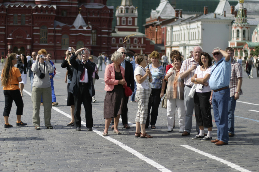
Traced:
<path fill-rule="evenodd" d="M 92 114 L 92 97 L 88 90 L 88 83 L 85 85 L 79 84 L 77 95 L 74 96 L 75 101 L 75 124 L 76 127 L 81 127 L 81 116 L 80 110 L 82 103 L 84 104 L 85 108 L 85 120 L 86 120 L 86 127 L 92 128 L 93 127 L 93 114 Z"/>

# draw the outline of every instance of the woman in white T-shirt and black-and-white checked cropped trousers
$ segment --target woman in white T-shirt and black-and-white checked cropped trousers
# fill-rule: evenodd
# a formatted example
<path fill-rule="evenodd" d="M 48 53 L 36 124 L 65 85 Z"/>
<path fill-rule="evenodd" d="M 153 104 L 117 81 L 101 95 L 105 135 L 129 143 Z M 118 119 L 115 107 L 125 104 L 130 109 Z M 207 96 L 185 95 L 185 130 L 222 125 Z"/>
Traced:
<path fill-rule="evenodd" d="M 137 91 L 136 91 L 136 100 L 137 100 L 137 114 L 136 114 L 136 132 L 135 137 L 140 138 L 153 138 L 153 136 L 148 135 L 146 133 L 146 119 L 148 115 L 148 105 L 149 105 L 149 98 L 151 94 L 151 85 L 152 82 L 152 75 L 150 73 L 150 69 L 145 69 L 146 65 L 148 64 L 148 56 L 139 55 L 137 58 L 137 64 L 139 66 L 136 67 L 134 71 L 134 79 L 137 84 Z M 141 128 L 141 131 L 140 131 Z"/>

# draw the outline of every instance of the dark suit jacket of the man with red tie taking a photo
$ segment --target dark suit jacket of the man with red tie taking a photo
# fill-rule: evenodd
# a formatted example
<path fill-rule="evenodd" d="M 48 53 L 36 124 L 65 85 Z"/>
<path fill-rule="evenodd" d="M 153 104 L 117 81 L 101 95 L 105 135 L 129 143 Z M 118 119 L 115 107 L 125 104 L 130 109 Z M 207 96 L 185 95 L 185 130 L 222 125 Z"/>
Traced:
<path fill-rule="evenodd" d="M 76 57 L 77 56 L 75 56 L 75 53 L 74 53 L 69 60 L 72 67 L 74 67 L 74 72 L 73 72 L 73 78 L 68 91 L 71 92 L 74 96 L 77 96 L 80 76 L 81 76 L 81 73 L 84 72 L 85 70 L 84 67 L 85 67 L 88 73 L 88 90 L 90 95 L 94 96 L 95 92 L 94 92 L 94 83 L 93 83 L 93 72 L 95 70 L 95 64 L 92 63 L 90 60 L 86 61 L 86 63 L 83 64 L 82 61 L 76 60 Z"/>

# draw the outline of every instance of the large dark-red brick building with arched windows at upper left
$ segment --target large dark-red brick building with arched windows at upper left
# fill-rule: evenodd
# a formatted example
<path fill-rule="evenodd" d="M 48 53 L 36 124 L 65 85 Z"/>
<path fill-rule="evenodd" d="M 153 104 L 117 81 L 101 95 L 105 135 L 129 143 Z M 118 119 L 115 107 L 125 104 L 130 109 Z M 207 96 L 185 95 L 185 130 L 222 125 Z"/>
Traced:
<path fill-rule="evenodd" d="M 46 49 L 61 62 L 69 46 L 111 54 L 113 6 L 107 0 L 0 0 L 0 53 Z"/>

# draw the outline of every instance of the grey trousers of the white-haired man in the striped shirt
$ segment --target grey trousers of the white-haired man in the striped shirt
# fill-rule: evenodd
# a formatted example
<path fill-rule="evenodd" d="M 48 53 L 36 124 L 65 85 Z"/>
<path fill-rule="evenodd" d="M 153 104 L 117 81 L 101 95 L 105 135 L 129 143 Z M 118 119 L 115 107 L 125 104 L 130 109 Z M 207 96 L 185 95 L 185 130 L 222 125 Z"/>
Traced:
<path fill-rule="evenodd" d="M 184 86 L 183 90 L 183 97 L 184 97 L 184 106 L 185 106 L 185 128 L 184 131 L 187 131 L 188 133 L 192 130 L 192 124 L 193 124 L 193 109 L 194 109 L 194 102 L 193 98 L 189 97 L 191 88 L 188 86 Z M 196 131 L 199 132 L 199 126 L 196 123 Z"/>

